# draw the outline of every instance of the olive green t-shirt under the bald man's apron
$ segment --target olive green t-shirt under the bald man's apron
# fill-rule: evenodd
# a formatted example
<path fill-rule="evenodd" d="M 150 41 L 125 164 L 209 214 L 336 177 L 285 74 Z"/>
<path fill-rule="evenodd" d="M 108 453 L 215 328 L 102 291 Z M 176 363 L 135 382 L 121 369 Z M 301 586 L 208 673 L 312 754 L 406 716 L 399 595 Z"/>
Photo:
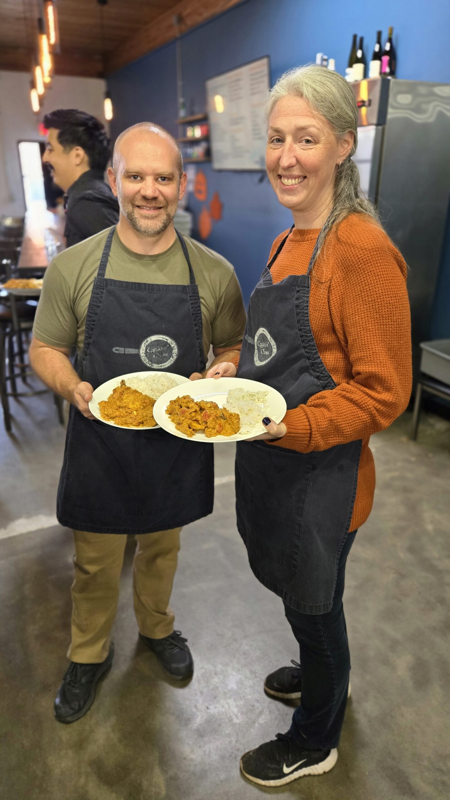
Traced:
<path fill-rule="evenodd" d="M 81 352 L 94 278 L 110 228 L 59 254 L 46 270 L 34 320 L 34 336 L 46 345 L 76 346 Z M 242 341 L 245 309 L 233 266 L 221 255 L 185 236 L 198 286 L 205 358 L 209 347 L 232 347 Z M 133 253 L 113 235 L 106 278 L 138 283 L 188 284 L 189 267 L 181 244 L 157 255 Z"/>

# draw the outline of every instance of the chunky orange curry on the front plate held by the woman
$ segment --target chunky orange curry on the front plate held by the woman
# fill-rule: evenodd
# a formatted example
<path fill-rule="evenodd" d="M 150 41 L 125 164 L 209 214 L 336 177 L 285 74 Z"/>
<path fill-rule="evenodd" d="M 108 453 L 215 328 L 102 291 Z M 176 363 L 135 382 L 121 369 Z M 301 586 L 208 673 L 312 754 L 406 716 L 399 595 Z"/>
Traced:
<path fill-rule="evenodd" d="M 177 397 L 169 402 L 165 413 L 181 434 L 191 438 L 198 431 L 208 438 L 214 436 L 233 436 L 239 433 L 241 420 L 226 408 L 219 408 L 217 402 L 210 400 L 193 400 L 189 394 Z"/>

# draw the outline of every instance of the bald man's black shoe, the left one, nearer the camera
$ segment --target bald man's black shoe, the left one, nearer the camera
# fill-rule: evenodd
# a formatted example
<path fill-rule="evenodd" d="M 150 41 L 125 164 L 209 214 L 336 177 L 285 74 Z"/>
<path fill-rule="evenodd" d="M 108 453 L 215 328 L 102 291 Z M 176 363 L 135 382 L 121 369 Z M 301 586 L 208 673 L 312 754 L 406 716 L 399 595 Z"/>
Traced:
<path fill-rule="evenodd" d="M 113 663 L 114 646 L 101 664 L 78 664 L 71 661 L 54 701 L 54 715 L 59 722 L 75 722 L 90 710 L 100 678 Z"/>

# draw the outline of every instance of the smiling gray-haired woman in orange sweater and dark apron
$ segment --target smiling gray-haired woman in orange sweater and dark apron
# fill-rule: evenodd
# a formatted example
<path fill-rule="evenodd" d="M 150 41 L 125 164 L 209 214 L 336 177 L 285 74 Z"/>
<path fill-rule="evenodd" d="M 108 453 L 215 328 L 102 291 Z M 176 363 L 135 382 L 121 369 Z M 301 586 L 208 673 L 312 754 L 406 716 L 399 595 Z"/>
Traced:
<path fill-rule="evenodd" d="M 237 526 L 300 646 L 300 663 L 270 674 L 265 690 L 301 704 L 288 733 L 245 753 L 241 770 L 282 786 L 337 761 L 350 672 L 345 562 L 372 507 L 368 439 L 408 405 L 411 345 L 407 268 L 351 158 L 351 87 L 321 66 L 291 70 L 269 94 L 267 122 L 267 172 L 293 226 L 253 291 L 237 374 L 279 390 L 288 411 L 237 445 Z"/>

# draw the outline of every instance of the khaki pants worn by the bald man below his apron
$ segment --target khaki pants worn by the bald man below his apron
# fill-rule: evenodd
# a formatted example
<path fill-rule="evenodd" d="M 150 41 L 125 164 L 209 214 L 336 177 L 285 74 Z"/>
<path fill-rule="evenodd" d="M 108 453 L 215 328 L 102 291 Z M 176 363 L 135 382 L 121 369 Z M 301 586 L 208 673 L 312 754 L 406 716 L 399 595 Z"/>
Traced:
<path fill-rule="evenodd" d="M 181 528 L 136 536 L 133 561 L 134 613 L 141 634 L 160 639 L 173 632 L 169 609 L 177 569 Z M 110 650 L 116 616 L 125 534 L 92 534 L 74 530 L 75 578 L 72 585 L 71 661 L 97 664 Z"/>

